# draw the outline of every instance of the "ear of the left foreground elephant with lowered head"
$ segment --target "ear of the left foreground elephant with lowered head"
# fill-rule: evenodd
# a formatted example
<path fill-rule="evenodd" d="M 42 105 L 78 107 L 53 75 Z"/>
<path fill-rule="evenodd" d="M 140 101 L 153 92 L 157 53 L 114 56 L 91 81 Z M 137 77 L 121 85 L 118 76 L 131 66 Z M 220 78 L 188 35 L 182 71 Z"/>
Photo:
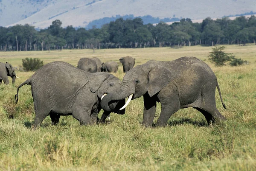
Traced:
<path fill-rule="evenodd" d="M 95 93 L 102 83 L 108 79 L 109 74 L 105 73 L 91 73 L 87 75 L 89 79 L 89 87 L 91 92 Z"/>

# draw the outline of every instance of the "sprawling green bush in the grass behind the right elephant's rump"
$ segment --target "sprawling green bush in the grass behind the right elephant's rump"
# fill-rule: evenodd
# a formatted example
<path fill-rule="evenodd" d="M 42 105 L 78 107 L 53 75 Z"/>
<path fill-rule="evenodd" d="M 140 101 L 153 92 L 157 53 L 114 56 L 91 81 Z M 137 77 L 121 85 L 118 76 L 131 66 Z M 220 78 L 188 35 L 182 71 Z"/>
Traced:
<path fill-rule="evenodd" d="M 232 55 L 233 53 L 225 53 L 225 48 L 225 46 L 215 46 L 215 48 L 212 48 L 212 52 L 209 54 L 209 61 L 214 63 L 215 66 L 223 66 L 226 65 L 227 62 L 230 62 L 228 64 L 231 66 L 238 66 L 247 62 L 242 59 L 235 58 L 235 56 Z"/>

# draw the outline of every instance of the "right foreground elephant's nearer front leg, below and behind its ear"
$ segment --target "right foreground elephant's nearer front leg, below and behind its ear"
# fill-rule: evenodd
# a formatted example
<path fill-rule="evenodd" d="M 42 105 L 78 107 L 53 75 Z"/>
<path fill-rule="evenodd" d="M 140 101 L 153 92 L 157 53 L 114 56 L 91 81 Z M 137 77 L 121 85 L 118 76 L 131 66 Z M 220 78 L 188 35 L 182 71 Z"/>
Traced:
<path fill-rule="evenodd" d="M 159 93 L 159 100 L 161 103 L 161 113 L 157 120 L 157 126 L 165 126 L 168 119 L 180 109 L 180 100 L 177 92 L 162 92 Z"/>

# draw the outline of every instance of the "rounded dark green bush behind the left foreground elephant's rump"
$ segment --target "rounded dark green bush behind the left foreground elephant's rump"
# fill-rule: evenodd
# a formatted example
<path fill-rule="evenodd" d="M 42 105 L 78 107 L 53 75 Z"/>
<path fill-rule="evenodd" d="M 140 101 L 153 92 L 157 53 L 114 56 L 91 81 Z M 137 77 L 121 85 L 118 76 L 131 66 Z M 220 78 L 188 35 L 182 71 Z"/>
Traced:
<path fill-rule="evenodd" d="M 35 71 L 44 65 L 44 62 L 38 58 L 22 59 L 22 66 L 25 71 Z"/>

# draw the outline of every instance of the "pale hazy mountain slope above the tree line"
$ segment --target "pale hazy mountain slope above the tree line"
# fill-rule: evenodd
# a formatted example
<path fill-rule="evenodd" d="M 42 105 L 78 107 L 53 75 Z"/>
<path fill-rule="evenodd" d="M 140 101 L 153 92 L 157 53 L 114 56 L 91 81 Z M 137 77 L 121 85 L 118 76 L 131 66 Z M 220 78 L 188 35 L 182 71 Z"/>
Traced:
<path fill-rule="evenodd" d="M 167 0 L 157 3 L 154 0 L 0 0 L 0 25 L 9 27 L 28 23 L 35 28 L 47 28 L 52 21 L 61 20 L 63 27 L 87 27 L 93 21 L 116 15 L 193 20 L 246 13 L 255 10 L 255 4 L 256 0 L 246 3 L 243 0 L 198 0 L 197 3 L 187 0 L 172 3 Z M 6 14 L 8 12 L 13 14 Z"/>

